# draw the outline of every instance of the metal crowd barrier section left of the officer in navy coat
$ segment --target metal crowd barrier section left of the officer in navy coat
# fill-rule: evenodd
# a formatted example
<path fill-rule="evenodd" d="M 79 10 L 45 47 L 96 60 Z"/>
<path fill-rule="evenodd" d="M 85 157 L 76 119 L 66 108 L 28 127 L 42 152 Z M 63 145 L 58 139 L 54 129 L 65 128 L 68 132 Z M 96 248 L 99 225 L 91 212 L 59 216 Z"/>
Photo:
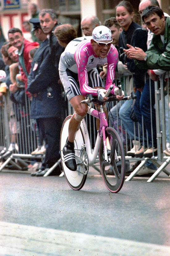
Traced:
<path fill-rule="evenodd" d="M 3 107 L 0 108 L 0 146 L 6 152 L 11 143 L 15 144 L 9 157 L 0 157 L 0 171 L 9 169 L 27 170 L 30 162 L 42 159 L 43 156 L 32 156 L 37 147 L 36 123 L 30 119 L 30 99 L 25 94 L 24 104 L 15 104 L 10 99 L 10 92 L 3 95 Z"/>

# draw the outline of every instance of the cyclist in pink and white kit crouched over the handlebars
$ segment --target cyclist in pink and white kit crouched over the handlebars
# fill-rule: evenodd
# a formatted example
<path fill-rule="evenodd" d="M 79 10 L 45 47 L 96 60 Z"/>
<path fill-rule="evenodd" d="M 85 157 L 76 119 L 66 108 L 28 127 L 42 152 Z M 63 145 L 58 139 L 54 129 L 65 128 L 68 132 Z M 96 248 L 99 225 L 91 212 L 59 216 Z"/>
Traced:
<path fill-rule="evenodd" d="M 114 79 L 118 60 L 118 52 L 112 41 L 110 29 L 98 26 L 93 30 L 92 37 L 72 40 L 60 58 L 60 79 L 75 111 L 70 119 L 69 135 L 63 148 L 65 165 L 72 171 L 77 170 L 74 152 L 75 134 L 88 110 L 87 104 L 81 104 L 80 101 L 85 99 L 87 94 L 98 96 L 100 101 L 108 99 L 105 93 Z M 96 67 L 105 63 L 108 63 L 108 71 L 104 88 Z M 118 95 L 115 84 L 111 93 L 119 100 L 123 98 L 123 95 Z M 106 105 L 104 111 L 107 112 Z"/>

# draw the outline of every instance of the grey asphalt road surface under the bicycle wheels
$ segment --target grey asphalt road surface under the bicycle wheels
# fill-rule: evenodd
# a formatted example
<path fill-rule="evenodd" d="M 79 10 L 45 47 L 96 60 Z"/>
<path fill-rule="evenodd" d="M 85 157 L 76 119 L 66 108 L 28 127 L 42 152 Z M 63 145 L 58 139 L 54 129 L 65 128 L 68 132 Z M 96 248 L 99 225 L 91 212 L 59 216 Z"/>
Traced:
<path fill-rule="evenodd" d="M 94 170 L 80 191 L 64 177 L 2 171 L 0 221 L 170 246 L 170 179 L 158 178 L 134 178 L 112 194 Z"/>

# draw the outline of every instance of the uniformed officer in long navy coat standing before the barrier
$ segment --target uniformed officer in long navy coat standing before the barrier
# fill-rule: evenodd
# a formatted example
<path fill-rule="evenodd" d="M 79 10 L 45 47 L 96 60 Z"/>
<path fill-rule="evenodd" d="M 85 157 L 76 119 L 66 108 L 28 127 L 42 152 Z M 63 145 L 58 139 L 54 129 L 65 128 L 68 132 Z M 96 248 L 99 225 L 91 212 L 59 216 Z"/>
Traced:
<path fill-rule="evenodd" d="M 40 27 L 37 27 L 41 30 Z M 57 71 L 51 61 L 47 35 L 36 33 L 38 39 L 43 41 L 36 51 L 31 72 L 28 76 L 28 91 L 32 94 L 30 117 L 36 119 L 40 129 L 44 130 L 46 153 L 41 169 L 32 176 L 44 176 L 60 158 L 60 131 L 62 116 L 61 87 L 57 85 Z"/>

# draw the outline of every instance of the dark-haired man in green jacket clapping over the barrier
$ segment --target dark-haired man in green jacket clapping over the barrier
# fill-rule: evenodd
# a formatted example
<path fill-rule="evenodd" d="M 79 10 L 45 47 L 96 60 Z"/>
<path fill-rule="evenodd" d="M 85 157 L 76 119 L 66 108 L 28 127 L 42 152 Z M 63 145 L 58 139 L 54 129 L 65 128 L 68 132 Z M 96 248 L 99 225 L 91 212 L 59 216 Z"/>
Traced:
<path fill-rule="evenodd" d="M 138 47 L 124 49 L 130 59 L 136 59 L 139 68 L 162 69 L 170 71 L 170 17 L 165 17 L 159 7 L 149 6 L 142 13 L 142 20 L 154 33 L 146 52 Z"/>

